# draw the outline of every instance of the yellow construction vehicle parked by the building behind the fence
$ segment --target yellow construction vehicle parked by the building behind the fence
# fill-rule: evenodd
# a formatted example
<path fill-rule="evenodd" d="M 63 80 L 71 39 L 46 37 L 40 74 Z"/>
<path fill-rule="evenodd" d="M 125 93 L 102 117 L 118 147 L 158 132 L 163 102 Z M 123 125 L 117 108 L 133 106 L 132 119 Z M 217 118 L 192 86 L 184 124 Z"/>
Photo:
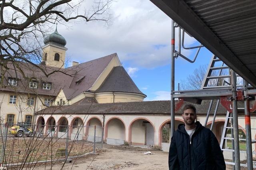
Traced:
<path fill-rule="evenodd" d="M 18 122 L 17 125 L 11 127 L 10 133 L 16 137 L 23 137 L 24 135 L 31 137 L 34 134 L 25 122 Z"/>

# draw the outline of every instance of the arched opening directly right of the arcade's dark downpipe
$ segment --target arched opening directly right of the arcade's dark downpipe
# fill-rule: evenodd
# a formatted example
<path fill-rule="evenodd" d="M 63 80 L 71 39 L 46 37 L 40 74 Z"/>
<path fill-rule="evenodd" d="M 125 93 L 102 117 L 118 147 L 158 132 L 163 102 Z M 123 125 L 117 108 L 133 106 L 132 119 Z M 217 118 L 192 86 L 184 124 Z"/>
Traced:
<path fill-rule="evenodd" d="M 123 145 L 125 141 L 125 125 L 119 118 L 111 118 L 105 125 L 106 143 L 110 145 Z"/>

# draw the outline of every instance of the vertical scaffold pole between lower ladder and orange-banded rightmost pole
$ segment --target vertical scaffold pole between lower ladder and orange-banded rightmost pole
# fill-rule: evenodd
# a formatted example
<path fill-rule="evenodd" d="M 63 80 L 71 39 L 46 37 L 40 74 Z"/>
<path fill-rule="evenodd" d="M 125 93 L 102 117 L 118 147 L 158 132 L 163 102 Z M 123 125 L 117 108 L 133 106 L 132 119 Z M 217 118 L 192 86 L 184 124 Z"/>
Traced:
<path fill-rule="evenodd" d="M 238 135 L 238 110 L 236 102 L 236 72 L 231 72 L 232 85 L 232 104 L 233 104 L 233 129 L 234 129 L 234 152 L 235 152 L 235 169 L 240 170 L 240 149 Z"/>

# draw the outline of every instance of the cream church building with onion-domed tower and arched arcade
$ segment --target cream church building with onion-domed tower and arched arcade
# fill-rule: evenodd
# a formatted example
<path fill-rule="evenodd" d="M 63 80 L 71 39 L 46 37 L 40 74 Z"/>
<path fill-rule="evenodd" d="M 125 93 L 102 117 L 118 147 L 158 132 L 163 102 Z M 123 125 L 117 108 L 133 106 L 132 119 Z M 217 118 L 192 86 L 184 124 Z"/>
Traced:
<path fill-rule="evenodd" d="M 109 144 L 154 145 L 168 151 L 170 139 L 163 141 L 162 133 L 170 124 L 170 101 L 143 102 L 146 95 L 134 84 L 116 53 L 81 64 L 73 62 L 64 68 L 67 50 L 64 37 L 56 29 L 44 43 L 40 65 L 20 62 L 17 68 L 9 63 L 10 69 L 2 74 L 2 123 L 13 125 L 25 121 L 37 124 L 44 135 L 53 132 L 60 137 L 66 133 L 63 127 L 70 126 L 68 137 L 74 139 L 78 135 L 78 139 L 89 141 L 93 140 L 93 129 L 88 126 L 97 126 L 101 131 L 96 140 L 103 137 Z M 180 107 L 184 103 L 177 102 L 176 127 L 183 123 Z M 209 101 L 196 107 L 197 119 L 204 124 Z M 212 124 L 213 112 L 212 109 L 207 127 Z M 212 129 L 218 141 L 226 113 L 219 106 Z M 241 112 L 239 125 L 245 127 L 242 117 Z M 84 128 L 78 132 L 79 126 Z M 252 138 L 255 137 L 256 131 L 252 130 Z"/>

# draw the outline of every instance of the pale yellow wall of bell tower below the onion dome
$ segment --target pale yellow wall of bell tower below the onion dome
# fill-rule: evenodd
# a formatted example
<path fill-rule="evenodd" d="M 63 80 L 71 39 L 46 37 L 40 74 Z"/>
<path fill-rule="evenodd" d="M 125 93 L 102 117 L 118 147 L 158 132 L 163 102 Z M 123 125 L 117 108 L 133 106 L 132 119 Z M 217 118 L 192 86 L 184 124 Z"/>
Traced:
<path fill-rule="evenodd" d="M 46 45 L 45 47 L 43 47 L 44 54 L 47 53 L 47 60 L 45 61 L 46 65 L 54 66 L 58 68 L 64 68 L 66 50 L 67 50 L 66 47 L 62 48 L 62 47 L 56 47 L 53 45 Z M 54 61 L 55 53 L 59 53 L 60 61 Z"/>

